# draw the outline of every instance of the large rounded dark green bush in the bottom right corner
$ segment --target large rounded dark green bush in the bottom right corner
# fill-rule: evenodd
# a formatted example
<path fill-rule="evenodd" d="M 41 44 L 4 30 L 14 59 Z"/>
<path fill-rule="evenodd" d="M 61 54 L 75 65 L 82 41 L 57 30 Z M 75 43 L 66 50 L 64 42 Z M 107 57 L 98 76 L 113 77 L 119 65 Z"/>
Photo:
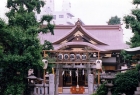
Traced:
<path fill-rule="evenodd" d="M 119 73 L 114 80 L 114 93 L 133 95 L 138 86 L 139 73 L 136 69 Z"/>

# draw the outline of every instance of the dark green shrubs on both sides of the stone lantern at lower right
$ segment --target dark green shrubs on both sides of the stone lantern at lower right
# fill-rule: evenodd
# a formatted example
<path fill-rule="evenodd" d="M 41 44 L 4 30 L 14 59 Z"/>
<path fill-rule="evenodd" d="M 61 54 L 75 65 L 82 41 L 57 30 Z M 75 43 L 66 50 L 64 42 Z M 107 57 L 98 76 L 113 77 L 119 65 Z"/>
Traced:
<path fill-rule="evenodd" d="M 138 86 L 140 80 L 140 65 L 137 65 L 135 69 L 128 70 L 125 73 L 118 73 L 113 80 L 114 87 L 112 88 L 112 94 L 118 95 L 118 93 L 125 93 L 126 95 L 133 95 Z M 93 95 L 106 95 L 107 87 L 105 83 L 102 84 Z"/>

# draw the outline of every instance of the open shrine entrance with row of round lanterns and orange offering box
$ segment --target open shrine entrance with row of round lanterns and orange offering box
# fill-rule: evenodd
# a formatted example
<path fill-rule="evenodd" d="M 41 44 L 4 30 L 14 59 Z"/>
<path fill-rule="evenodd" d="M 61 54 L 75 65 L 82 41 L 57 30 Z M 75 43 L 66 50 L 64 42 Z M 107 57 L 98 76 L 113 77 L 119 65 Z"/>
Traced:
<path fill-rule="evenodd" d="M 52 69 L 55 74 L 55 95 L 93 93 L 95 74 L 91 72 L 96 72 L 96 61 L 101 63 L 100 51 L 50 50 L 47 52 L 51 53 L 50 57 L 56 59 Z"/>

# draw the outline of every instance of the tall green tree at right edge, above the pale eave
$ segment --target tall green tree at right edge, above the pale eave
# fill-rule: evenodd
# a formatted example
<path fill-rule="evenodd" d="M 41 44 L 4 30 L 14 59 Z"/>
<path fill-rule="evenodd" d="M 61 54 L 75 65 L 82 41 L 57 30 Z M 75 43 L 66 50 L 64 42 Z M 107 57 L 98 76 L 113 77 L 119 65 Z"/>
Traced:
<path fill-rule="evenodd" d="M 134 33 L 131 38 L 131 47 L 140 46 L 140 9 L 138 5 L 140 4 L 140 0 L 133 0 L 133 4 L 137 5 L 135 9 L 132 9 L 131 14 L 124 16 L 124 22 L 126 24 L 127 29 L 132 29 Z"/>

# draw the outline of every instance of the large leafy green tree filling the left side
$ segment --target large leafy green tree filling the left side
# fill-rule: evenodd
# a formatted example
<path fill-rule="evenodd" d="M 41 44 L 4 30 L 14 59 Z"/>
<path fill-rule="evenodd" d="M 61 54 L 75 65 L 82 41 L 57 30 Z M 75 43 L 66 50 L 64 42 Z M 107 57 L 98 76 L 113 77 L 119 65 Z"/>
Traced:
<path fill-rule="evenodd" d="M 34 12 L 40 13 L 44 4 L 42 0 L 7 0 L 8 23 L 0 19 L 1 95 L 21 95 L 27 88 L 28 70 L 43 66 L 38 33 L 54 34 L 52 16 L 44 15 L 40 22 L 35 18 Z M 44 21 L 48 24 L 42 28 Z"/>

